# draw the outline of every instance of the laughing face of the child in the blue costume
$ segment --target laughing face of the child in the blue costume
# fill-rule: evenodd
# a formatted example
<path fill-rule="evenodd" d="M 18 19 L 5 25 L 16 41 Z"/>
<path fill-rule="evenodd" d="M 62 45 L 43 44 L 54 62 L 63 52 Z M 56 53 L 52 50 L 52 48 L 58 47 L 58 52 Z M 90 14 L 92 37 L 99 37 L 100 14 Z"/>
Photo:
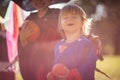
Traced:
<path fill-rule="evenodd" d="M 78 14 L 64 14 L 61 16 L 61 27 L 66 31 L 80 31 L 82 28 L 81 16 Z"/>

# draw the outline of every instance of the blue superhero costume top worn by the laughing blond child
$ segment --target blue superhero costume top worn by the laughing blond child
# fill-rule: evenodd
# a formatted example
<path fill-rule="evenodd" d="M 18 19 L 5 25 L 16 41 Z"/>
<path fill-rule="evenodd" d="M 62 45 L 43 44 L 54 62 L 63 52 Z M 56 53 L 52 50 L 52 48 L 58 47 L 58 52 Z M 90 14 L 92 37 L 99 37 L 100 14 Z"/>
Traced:
<path fill-rule="evenodd" d="M 60 46 L 65 46 L 60 51 Z M 82 80 L 94 80 L 97 56 L 92 42 L 85 36 L 72 43 L 59 41 L 55 47 L 54 64 L 62 63 L 69 70 L 77 69 Z"/>

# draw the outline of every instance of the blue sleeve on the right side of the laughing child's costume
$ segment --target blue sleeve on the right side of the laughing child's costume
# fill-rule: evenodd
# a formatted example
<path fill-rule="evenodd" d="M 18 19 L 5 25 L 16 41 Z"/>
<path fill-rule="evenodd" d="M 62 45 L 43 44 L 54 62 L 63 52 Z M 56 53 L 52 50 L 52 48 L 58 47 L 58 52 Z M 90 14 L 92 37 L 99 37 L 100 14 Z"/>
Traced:
<path fill-rule="evenodd" d="M 93 45 L 88 44 L 84 51 L 83 63 L 78 67 L 78 71 L 82 75 L 83 80 L 94 80 L 97 56 Z"/>

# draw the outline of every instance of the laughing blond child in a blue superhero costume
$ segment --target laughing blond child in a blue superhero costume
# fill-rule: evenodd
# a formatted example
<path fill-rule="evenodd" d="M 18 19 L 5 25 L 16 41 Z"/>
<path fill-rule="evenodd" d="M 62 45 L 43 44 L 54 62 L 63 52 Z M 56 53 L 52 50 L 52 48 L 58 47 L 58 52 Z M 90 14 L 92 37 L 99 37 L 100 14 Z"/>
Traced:
<path fill-rule="evenodd" d="M 68 69 L 68 74 L 67 78 L 62 77 L 61 80 L 95 80 L 98 58 L 95 46 L 88 38 L 88 21 L 86 13 L 78 5 L 68 4 L 60 11 L 58 29 L 63 39 L 55 46 L 55 65 L 51 72 L 57 74 L 55 66 L 63 64 Z M 59 76 L 61 74 L 57 74 L 58 78 Z"/>

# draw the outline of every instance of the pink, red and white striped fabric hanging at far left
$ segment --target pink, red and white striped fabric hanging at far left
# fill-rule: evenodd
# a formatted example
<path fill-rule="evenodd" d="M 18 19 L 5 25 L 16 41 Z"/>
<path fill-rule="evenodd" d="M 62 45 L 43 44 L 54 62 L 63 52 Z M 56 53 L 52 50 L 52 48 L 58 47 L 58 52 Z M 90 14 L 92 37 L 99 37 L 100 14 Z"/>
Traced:
<path fill-rule="evenodd" d="M 27 16 L 28 15 L 25 15 L 25 11 L 23 11 L 17 4 L 10 1 L 5 15 L 5 23 L 4 23 L 6 29 L 8 58 L 10 63 L 18 55 L 17 40 L 19 34 L 19 27 L 22 25 L 23 20 Z"/>

